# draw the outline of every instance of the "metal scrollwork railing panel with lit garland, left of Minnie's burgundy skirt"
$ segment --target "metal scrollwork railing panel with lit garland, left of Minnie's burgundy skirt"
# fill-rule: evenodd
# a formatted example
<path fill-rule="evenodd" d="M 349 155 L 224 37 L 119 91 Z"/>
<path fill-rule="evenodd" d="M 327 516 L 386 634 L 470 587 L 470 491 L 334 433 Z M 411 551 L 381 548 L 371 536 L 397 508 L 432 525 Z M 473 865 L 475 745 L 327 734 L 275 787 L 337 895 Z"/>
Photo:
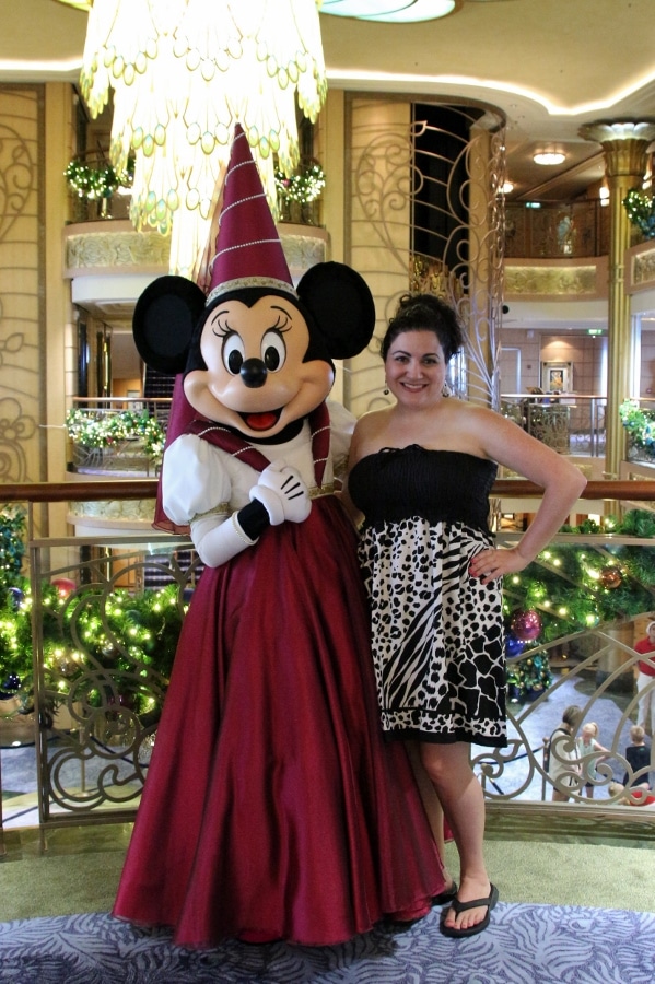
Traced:
<path fill-rule="evenodd" d="M 78 538 L 94 555 L 56 570 L 43 565 L 47 547 L 31 550 L 40 822 L 131 816 L 198 561 L 165 535 L 127 549 Z"/>

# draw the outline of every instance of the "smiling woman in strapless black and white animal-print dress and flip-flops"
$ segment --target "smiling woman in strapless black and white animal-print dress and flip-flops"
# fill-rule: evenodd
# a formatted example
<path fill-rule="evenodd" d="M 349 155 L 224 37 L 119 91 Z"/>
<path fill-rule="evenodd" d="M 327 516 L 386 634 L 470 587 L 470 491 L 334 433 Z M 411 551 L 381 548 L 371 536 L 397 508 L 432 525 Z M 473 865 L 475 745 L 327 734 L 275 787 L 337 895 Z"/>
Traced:
<path fill-rule="evenodd" d="M 446 397 L 461 344 L 447 304 L 401 298 L 382 343 L 396 402 L 358 422 L 346 500 L 365 517 L 360 561 L 382 725 L 389 738 L 419 742 L 459 853 L 448 936 L 481 932 L 498 900 L 469 745 L 506 745 L 502 577 L 546 547 L 585 487 L 577 468 L 514 423 Z M 488 528 L 496 462 L 545 490 L 512 549 L 495 549 Z"/>

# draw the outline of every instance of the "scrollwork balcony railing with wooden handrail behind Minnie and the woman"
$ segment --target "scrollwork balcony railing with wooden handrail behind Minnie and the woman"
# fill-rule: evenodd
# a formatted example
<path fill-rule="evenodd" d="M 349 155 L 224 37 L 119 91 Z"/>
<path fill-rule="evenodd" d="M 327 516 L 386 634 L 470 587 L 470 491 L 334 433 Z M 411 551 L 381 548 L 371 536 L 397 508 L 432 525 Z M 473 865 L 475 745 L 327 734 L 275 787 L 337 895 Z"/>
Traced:
<path fill-rule="evenodd" d="M 155 484 L 114 481 L 110 491 L 98 482 L 0 487 L 0 501 L 31 507 L 71 497 L 152 497 Z M 538 494 L 523 480 L 494 487 L 501 503 Z M 655 489 L 648 481 L 589 482 L 584 496 L 617 500 L 618 508 L 621 500 L 655 500 Z M 499 541 L 512 543 L 517 536 L 504 530 Z M 73 560 L 54 562 L 62 552 Z M 16 741 L 36 746 L 33 806 L 43 833 L 133 819 L 196 564 L 188 540 L 165 535 L 31 537 L 31 596 L 21 600 L 16 618 L 31 620 L 32 679 L 0 701 L 0 746 L 3 757 Z M 505 584 L 508 618 L 529 598 L 541 633 L 522 642 L 510 630 L 508 748 L 472 749 L 489 808 L 564 811 L 628 830 L 652 813 L 621 805 L 609 783 L 622 782 L 625 772 L 633 778 L 624 751 L 636 717 L 634 641 L 655 612 L 655 537 L 617 536 L 609 526 L 560 535 L 535 571 L 524 574 L 531 577 L 527 588 Z M 604 611 L 609 617 L 593 616 Z M 574 703 L 584 721 L 600 723 L 608 754 L 578 755 L 569 766 L 570 800 L 555 804 L 545 742 L 564 706 Z M 655 773 L 653 761 L 651 769 Z M 585 789 L 592 775 L 594 798 Z M 646 780 L 646 773 L 635 778 Z M 5 823 L 16 820 L 9 800 Z M 0 824 L 0 853 L 2 846 Z"/>

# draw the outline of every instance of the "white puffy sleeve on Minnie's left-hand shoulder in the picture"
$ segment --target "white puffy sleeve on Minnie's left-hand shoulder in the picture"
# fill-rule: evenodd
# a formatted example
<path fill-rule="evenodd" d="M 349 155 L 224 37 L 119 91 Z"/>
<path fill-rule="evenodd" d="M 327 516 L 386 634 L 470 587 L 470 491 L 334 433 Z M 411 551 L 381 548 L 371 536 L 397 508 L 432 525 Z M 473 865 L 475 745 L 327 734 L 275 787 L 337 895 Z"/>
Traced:
<path fill-rule="evenodd" d="M 183 434 L 164 453 L 162 505 L 178 526 L 229 503 L 232 482 L 221 455 L 209 442 Z"/>

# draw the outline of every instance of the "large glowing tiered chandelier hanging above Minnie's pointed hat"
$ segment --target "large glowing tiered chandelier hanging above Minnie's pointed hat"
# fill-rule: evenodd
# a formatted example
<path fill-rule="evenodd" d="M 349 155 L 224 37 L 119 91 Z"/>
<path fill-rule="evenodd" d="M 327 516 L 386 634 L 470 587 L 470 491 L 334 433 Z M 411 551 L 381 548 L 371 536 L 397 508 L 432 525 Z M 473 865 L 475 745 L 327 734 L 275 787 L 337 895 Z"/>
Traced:
<path fill-rule="evenodd" d="M 276 168 L 300 159 L 296 101 L 315 120 L 327 81 L 318 0 L 94 0 L 80 84 L 92 117 L 113 92 L 109 157 L 133 159 L 130 219 L 171 234 L 195 277 L 238 121 L 276 213 Z"/>

